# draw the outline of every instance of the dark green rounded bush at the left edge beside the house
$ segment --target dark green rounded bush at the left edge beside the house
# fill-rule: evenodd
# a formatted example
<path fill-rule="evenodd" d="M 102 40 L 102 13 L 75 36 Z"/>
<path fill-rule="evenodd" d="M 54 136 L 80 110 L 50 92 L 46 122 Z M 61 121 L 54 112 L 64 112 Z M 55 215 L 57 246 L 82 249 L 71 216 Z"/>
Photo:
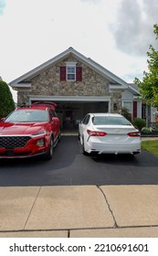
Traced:
<path fill-rule="evenodd" d="M 12 93 L 3 80 L 0 80 L 0 118 L 15 110 L 15 102 Z"/>

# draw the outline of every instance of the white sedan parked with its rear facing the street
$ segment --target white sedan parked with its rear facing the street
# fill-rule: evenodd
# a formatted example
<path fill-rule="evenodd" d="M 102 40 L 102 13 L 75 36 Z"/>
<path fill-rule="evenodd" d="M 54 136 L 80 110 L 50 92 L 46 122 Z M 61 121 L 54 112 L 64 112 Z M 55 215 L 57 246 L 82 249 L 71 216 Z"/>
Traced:
<path fill-rule="evenodd" d="M 117 113 L 88 113 L 79 123 L 83 154 L 141 153 L 141 134 Z"/>

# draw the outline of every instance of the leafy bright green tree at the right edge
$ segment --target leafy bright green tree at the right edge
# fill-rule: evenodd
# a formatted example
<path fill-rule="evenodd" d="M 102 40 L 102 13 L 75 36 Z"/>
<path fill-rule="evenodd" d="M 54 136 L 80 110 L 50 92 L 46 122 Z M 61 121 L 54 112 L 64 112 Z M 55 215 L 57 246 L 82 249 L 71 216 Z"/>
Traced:
<path fill-rule="evenodd" d="M 153 33 L 155 39 L 158 39 L 158 25 L 153 25 Z M 152 45 L 147 51 L 148 72 L 143 71 L 142 81 L 138 78 L 134 79 L 142 94 L 142 98 L 146 101 L 146 104 L 152 105 L 158 108 L 158 51 L 156 51 Z"/>

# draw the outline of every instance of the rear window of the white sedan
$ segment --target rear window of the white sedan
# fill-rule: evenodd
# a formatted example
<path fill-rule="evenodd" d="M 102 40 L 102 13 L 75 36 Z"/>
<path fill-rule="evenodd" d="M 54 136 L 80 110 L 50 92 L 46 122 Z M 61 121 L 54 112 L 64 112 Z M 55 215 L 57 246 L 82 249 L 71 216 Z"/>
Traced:
<path fill-rule="evenodd" d="M 94 116 L 92 123 L 94 125 L 132 125 L 122 116 Z"/>

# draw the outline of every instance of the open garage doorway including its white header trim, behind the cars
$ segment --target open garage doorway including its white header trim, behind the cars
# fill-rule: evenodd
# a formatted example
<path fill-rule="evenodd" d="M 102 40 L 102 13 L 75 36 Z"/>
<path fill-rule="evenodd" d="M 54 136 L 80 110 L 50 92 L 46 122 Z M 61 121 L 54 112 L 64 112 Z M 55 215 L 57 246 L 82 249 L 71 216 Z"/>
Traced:
<path fill-rule="evenodd" d="M 88 112 L 110 112 L 111 109 L 108 96 L 31 96 L 29 100 L 56 102 L 62 132 L 78 130 L 79 122 Z"/>

